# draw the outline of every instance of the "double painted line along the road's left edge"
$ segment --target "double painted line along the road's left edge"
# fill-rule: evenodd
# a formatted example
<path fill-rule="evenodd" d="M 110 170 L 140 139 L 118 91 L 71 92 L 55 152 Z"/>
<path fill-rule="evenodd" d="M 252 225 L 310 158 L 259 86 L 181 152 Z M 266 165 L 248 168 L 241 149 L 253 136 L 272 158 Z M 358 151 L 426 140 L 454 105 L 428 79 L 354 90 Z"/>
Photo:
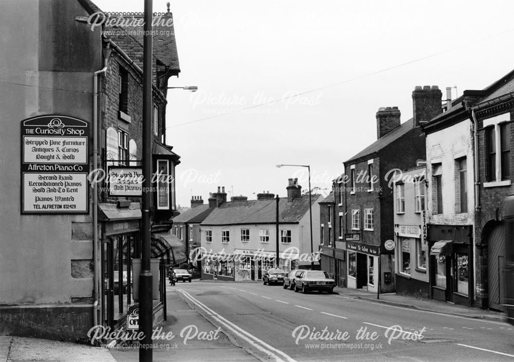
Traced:
<path fill-rule="evenodd" d="M 199 309 L 203 310 L 205 313 L 209 314 L 214 320 L 216 320 L 220 325 L 222 325 L 227 330 L 230 330 L 233 334 L 238 336 L 241 339 L 246 340 L 251 346 L 255 347 L 261 352 L 264 352 L 270 358 L 273 358 L 277 362 L 297 362 L 295 359 L 289 357 L 284 352 L 268 345 L 265 341 L 255 337 L 253 334 L 248 333 L 247 331 L 241 329 L 236 326 L 231 321 L 225 319 L 221 315 L 214 312 L 212 309 L 207 307 L 204 303 L 200 302 L 198 299 L 194 298 L 186 292 L 185 290 L 178 289 L 180 293 L 182 293 L 187 299 L 192 301 L 198 306 Z"/>

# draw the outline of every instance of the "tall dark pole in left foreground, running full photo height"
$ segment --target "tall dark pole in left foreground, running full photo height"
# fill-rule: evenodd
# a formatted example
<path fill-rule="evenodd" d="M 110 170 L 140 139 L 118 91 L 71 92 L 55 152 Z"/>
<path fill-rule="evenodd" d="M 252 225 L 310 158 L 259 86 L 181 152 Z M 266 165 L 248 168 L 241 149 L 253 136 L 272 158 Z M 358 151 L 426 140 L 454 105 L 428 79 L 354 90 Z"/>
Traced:
<path fill-rule="evenodd" d="M 141 273 L 139 274 L 139 362 L 152 362 L 152 272 L 150 269 L 150 208 L 152 202 L 152 0 L 144 0 L 143 35 L 143 129 L 141 195 Z M 157 276 L 156 276 L 157 277 Z"/>

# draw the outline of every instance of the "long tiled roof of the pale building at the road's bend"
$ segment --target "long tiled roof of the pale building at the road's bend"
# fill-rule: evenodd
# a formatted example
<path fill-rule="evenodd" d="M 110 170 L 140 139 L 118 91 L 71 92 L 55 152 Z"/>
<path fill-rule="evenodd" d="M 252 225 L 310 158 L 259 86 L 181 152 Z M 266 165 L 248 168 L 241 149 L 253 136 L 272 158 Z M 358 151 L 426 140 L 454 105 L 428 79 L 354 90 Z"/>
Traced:
<path fill-rule="evenodd" d="M 313 195 L 313 204 L 320 195 Z M 215 208 L 202 225 L 272 224 L 277 222 L 277 199 L 227 202 Z M 279 198 L 279 222 L 297 223 L 309 211 L 309 195 L 292 202 Z"/>

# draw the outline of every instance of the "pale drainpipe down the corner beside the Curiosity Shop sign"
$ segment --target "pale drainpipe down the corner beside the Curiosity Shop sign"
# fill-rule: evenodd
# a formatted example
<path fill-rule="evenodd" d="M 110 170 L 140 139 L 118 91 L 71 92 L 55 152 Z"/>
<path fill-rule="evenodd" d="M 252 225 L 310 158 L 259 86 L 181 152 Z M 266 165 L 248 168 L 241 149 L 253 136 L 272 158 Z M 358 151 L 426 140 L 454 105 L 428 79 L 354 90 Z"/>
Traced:
<path fill-rule="evenodd" d="M 105 51 L 105 52 L 104 52 Z M 98 76 L 105 73 L 107 70 L 107 62 L 111 49 L 103 49 L 103 68 L 96 71 L 93 75 L 93 170 L 98 168 Z M 93 325 L 98 325 L 98 304 L 100 300 L 100 293 L 98 292 L 98 285 L 100 282 L 100 275 L 98 268 L 98 182 L 93 184 L 93 259 L 94 259 L 94 292 L 93 298 Z"/>

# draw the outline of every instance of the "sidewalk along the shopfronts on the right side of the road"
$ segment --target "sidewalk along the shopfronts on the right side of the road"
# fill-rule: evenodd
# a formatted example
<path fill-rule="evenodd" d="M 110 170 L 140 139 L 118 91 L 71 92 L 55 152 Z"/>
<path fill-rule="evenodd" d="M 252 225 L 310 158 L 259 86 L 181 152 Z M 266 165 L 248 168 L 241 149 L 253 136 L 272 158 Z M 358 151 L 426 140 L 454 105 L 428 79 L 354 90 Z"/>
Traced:
<path fill-rule="evenodd" d="M 380 294 L 379 299 L 377 299 L 377 293 L 371 293 L 359 289 L 348 289 L 339 287 L 334 288 L 334 292 L 339 293 L 339 295 L 341 296 L 346 296 L 354 299 L 362 299 L 374 303 L 389 304 L 390 306 L 417 309 L 421 311 L 429 311 L 436 313 L 445 313 L 449 315 L 456 315 L 467 318 L 493 320 L 497 322 L 505 321 L 505 314 L 502 312 L 460 306 L 458 304 L 452 304 L 439 300 L 416 298 L 413 296 L 399 295 L 396 293 Z"/>

